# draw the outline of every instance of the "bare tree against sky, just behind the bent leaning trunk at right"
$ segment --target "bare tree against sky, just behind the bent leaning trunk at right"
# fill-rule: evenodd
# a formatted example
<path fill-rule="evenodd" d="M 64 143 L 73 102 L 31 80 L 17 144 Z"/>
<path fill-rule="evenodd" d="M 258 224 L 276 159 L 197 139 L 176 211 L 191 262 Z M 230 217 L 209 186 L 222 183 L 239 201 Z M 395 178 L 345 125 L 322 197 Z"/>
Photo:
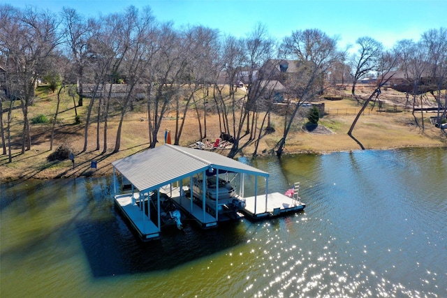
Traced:
<path fill-rule="evenodd" d="M 351 73 L 353 78 L 351 93 L 353 98 L 360 102 L 356 96 L 356 84 L 363 75 L 377 70 L 383 45 L 369 36 L 358 38 L 356 44 L 359 46 L 359 49 L 358 53 L 354 54 L 351 59 L 353 66 L 353 73 Z"/>

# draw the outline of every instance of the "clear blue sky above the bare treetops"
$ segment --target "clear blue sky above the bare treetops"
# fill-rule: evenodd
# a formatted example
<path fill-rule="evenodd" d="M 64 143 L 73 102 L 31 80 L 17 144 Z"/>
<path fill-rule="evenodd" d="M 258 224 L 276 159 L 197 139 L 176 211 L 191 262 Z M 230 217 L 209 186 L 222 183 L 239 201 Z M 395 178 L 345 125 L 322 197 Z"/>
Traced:
<path fill-rule="evenodd" d="M 0 0 L 58 12 L 75 8 L 85 16 L 115 13 L 127 6 L 150 6 L 159 21 L 180 28 L 201 24 L 243 37 L 261 22 L 278 40 L 295 30 L 318 28 L 339 36 L 339 47 L 371 36 L 387 48 L 400 39 L 418 40 L 428 29 L 447 27 L 447 0 Z"/>

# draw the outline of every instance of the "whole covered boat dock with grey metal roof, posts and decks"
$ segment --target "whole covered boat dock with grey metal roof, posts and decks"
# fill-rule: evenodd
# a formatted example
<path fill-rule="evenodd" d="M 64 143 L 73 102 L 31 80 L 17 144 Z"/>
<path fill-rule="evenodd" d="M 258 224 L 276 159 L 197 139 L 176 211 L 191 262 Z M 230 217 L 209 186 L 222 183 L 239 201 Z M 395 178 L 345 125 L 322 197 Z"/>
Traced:
<path fill-rule="evenodd" d="M 243 202 L 240 211 L 251 218 L 277 216 L 290 211 L 299 211 L 305 207 L 305 204 L 301 202 L 298 204 L 296 200 L 285 195 L 268 194 L 268 172 L 211 151 L 163 144 L 114 161 L 112 166 L 115 206 L 124 214 L 143 241 L 160 237 L 161 212 L 163 212 L 161 194 L 167 195 L 178 209 L 202 228 L 213 228 L 223 221 L 223 216 L 219 213 L 221 207 L 219 203 L 223 204 L 223 198 L 220 201 L 219 198 L 214 200 L 207 198 L 206 179 L 203 179 L 201 198 L 193 196 L 194 175 L 206 177 L 228 172 L 238 174 L 239 194 L 235 195 L 234 199 Z M 116 177 L 118 174 L 131 184 L 128 193 L 118 194 Z M 254 196 L 247 199 L 244 198 L 246 175 L 254 176 Z M 265 179 L 265 193 L 261 194 L 258 194 L 259 177 Z M 250 183 L 253 184 L 253 180 Z M 145 202 L 147 204 L 144 204 Z M 152 212 L 148 210 L 151 205 Z"/>

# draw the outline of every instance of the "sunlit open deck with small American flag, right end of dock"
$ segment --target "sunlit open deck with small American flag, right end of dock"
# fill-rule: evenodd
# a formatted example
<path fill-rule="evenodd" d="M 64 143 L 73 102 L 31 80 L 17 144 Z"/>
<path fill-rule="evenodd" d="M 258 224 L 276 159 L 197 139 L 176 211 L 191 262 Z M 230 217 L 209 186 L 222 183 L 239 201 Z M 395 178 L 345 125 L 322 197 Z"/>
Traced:
<path fill-rule="evenodd" d="M 305 203 L 282 193 L 269 193 L 267 198 L 267 206 L 265 195 L 258 195 L 256 200 L 255 197 L 245 198 L 246 206 L 242 212 L 251 219 L 258 219 L 302 211 L 306 207 Z"/>

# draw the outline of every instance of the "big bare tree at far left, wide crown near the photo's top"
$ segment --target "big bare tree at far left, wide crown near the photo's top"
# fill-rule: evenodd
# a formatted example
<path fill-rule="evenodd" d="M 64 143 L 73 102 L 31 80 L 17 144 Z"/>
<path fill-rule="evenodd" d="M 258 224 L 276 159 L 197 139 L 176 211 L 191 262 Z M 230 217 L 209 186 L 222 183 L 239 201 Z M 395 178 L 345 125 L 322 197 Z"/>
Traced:
<path fill-rule="evenodd" d="M 2 19 L 0 52 L 6 55 L 5 70 L 14 86 L 14 94 L 20 99 L 24 117 L 22 131 L 22 154 L 31 149 L 31 127 L 28 107 L 34 100 L 34 88 L 44 70 L 50 65 L 48 59 L 60 43 L 57 19 L 50 13 L 27 7 L 17 10 L 8 5 L 0 6 Z"/>

